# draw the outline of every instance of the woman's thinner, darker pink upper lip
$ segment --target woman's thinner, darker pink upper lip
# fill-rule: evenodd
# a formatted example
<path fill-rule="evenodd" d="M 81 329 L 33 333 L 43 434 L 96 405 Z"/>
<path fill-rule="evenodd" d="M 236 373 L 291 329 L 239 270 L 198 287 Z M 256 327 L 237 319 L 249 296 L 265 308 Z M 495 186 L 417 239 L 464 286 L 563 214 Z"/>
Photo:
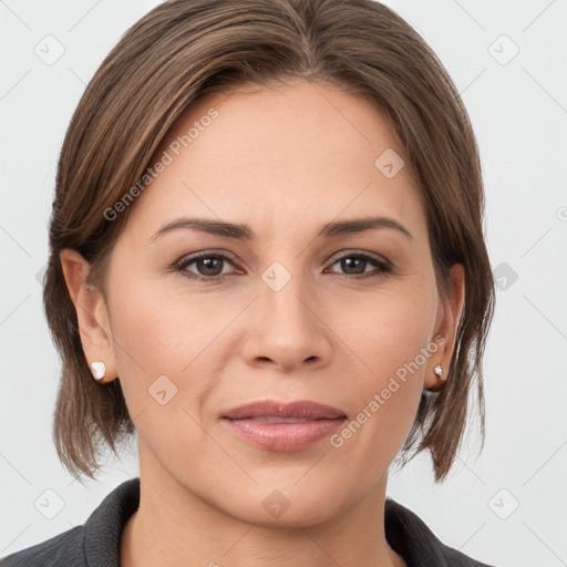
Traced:
<path fill-rule="evenodd" d="M 331 405 L 324 405 L 309 400 L 295 402 L 277 402 L 274 400 L 260 400 L 238 408 L 233 408 L 223 413 L 221 417 L 229 420 L 244 420 L 247 417 L 278 416 L 312 420 L 336 420 L 346 417 L 344 412 Z"/>

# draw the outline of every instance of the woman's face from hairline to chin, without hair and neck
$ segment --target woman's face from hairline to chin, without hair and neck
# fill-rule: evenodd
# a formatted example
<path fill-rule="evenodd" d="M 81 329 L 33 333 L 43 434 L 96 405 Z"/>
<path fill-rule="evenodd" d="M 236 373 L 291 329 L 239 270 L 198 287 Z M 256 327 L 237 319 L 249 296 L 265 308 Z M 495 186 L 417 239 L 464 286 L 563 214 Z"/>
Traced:
<path fill-rule="evenodd" d="M 120 377 L 142 475 L 259 524 L 362 505 L 384 489 L 451 355 L 425 212 L 393 131 L 330 86 L 246 85 L 193 106 L 156 158 L 109 266 L 99 320 L 112 341 L 90 358 Z M 370 218 L 382 220 L 342 225 Z M 326 234 L 333 224 L 343 229 Z M 223 417 L 266 400 L 346 417 Z"/>

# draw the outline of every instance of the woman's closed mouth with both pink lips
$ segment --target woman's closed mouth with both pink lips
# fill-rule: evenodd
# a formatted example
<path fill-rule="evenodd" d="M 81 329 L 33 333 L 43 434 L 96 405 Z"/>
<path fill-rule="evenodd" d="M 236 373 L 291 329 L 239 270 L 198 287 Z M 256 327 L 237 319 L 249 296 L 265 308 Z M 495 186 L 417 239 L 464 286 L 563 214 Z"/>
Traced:
<path fill-rule="evenodd" d="M 293 452 L 311 446 L 347 420 L 338 408 L 311 401 L 251 402 L 224 412 L 221 423 L 243 441 L 268 451 Z"/>

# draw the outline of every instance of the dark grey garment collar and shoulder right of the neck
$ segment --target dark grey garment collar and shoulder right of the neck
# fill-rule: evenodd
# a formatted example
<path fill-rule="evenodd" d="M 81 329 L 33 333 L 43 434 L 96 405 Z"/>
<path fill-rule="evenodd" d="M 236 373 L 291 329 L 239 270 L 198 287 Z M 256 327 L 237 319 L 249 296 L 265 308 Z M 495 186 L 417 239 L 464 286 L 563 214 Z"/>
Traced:
<path fill-rule="evenodd" d="M 491 567 L 443 544 L 416 514 L 391 498 L 385 501 L 384 529 L 409 567 Z"/>

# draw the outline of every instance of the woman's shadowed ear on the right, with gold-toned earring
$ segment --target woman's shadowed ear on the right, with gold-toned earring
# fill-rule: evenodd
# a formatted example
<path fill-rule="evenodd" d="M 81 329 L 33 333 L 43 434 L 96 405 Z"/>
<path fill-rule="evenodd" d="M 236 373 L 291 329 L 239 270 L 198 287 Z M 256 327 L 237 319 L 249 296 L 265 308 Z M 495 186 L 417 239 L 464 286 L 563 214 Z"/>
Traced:
<path fill-rule="evenodd" d="M 455 350 L 456 331 L 463 313 L 465 305 L 465 270 L 462 264 L 454 264 L 449 272 L 449 289 L 447 297 L 440 302 L 437 312 L 437 322 L 435 324 L 435 338 L 441 342 L 440 338 L 443 337 L 444 342 L 437 351 L 431 355 L 426 369 L 424 386 L 426 390 L 439 391 L 443 388 L 444 382 L 437 378 L 433 369 L 441 364 L 443 369 L 443 377 L 451 379 L 449 375 L 449 367 Z"/>

